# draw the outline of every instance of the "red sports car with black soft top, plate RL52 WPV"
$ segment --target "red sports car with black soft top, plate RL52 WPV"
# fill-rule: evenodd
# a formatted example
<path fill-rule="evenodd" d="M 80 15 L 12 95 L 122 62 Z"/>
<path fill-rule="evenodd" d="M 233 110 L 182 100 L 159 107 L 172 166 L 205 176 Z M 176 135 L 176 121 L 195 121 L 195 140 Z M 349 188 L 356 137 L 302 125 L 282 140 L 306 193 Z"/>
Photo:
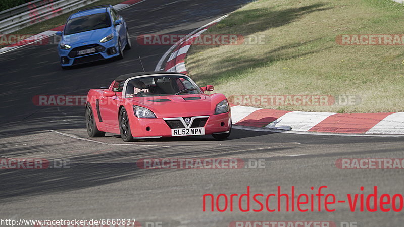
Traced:
<path fill-rule="evenodd" d="M 225 139 L 231 132 L 226 96 L 213 86 L 198 87 L 181 73 L 142 72 L 116 78 L 108 89 L 92 89 L 85 106 L 87 132 L 102 137 L 121 134 L 136 139 L 209 135 Z"/>

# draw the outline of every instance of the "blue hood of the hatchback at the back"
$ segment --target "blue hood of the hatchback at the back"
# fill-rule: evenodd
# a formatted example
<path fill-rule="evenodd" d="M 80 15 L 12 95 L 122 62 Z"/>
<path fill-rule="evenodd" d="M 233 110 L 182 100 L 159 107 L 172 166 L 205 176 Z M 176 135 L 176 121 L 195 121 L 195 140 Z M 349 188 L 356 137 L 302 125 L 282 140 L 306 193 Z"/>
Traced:
<path fill-rule="evenodd" d="M 74 45 L 88 41 L 99 41 L 111 33 L 113 33 L 112 27 L 85 31 L 71 35 L 64 35 L 62 42 L 64 44 Z"/>

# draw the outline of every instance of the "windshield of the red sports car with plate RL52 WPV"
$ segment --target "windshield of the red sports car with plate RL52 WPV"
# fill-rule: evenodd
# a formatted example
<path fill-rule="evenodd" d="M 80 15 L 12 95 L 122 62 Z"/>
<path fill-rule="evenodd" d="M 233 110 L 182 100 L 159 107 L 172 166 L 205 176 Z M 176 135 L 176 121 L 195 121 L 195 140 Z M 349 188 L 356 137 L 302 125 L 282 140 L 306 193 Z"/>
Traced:
<path fill-rule="evenodd" d="M 200 94 L 194 82 L 182 76 L 152 76 L 128 81 L 126 97 Z"/>

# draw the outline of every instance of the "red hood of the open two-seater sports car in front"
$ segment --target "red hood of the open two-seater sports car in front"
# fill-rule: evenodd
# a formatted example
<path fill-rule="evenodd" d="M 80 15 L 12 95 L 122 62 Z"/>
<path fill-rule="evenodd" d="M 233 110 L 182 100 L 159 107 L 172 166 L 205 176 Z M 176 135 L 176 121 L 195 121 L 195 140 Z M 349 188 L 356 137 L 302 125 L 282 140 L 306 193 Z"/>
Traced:
<path fill-rule="evenodd" d="M 128 98 L 133 105 L 153 111 L 157 118 L 213 115 L 216 105 L 205 94 Z"/>

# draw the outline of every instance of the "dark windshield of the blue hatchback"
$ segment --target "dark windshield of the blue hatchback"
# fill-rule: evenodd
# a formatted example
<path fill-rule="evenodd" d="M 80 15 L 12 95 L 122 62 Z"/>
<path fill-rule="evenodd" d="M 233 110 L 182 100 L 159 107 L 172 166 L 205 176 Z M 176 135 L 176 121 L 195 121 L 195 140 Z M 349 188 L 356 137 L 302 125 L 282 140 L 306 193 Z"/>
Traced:
<path fill-rule="evenodd" d="M 91 14 L 77 17 L 66 23 L 65 35 L 71 35 L 79 32 L 91 31 L 111 26 L 111 19 L 108 13 Z"/>

